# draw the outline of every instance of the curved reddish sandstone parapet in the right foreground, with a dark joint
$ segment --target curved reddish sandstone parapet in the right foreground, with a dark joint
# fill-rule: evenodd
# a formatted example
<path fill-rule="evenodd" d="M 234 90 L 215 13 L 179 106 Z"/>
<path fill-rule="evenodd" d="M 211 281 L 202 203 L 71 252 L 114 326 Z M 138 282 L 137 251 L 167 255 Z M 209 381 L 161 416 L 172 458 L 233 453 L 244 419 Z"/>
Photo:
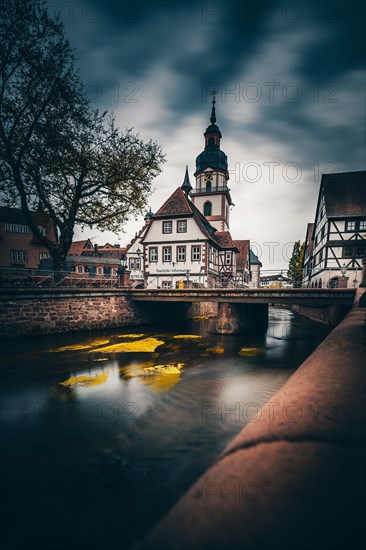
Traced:
<path fill-rule="evenodd" d="M 364 548 L 365 315 L 348 313 L 134 550 Z"/>

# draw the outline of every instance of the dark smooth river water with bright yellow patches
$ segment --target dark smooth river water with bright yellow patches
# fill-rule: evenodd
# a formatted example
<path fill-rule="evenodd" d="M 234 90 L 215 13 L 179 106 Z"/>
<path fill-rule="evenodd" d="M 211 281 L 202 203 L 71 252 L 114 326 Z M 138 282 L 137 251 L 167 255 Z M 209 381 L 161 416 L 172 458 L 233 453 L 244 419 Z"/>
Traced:
<path fill-rule="evenodd" d="M 1 548 L 127 548 L 255 414 L 248 404 L 266 402 L 327 333 L 279 309 L 261 334 L 211 329 L 195 321 L 3 344 Z M 187 334 L 200 337 L 174 338 Z M 126 342 L 157 347 L 108 349 Z M 171 363 L 183 363 L 180 375 L 140 376 Z M 80 376 L 91 378 L 70 380 Z"/>

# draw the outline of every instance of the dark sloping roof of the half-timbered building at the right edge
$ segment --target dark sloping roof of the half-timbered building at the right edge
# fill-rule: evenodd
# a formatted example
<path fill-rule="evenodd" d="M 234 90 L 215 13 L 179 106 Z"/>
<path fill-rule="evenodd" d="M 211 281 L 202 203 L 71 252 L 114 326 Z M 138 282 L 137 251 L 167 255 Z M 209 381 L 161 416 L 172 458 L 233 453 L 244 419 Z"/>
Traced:
<path fill-rule="evenodd" d="M 322 192 L 327 217 L 366 214 L 366 171 L 323 174 Z"/>

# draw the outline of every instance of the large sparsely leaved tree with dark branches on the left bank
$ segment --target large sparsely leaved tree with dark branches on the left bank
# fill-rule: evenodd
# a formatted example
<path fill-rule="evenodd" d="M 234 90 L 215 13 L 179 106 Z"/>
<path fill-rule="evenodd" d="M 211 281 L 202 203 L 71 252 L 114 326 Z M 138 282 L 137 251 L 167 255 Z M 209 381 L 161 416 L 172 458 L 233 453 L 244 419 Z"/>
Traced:
<path fill-rule="evenodd" d="M 75 224 L 117 231 L 140 213 L 164 161 L 160 147 L 93 111 L 59 17 L 43 0 L 1 0 L 0 192 L 64 267 Z M 58 242 L 32 210 L 50 215 Z"/>

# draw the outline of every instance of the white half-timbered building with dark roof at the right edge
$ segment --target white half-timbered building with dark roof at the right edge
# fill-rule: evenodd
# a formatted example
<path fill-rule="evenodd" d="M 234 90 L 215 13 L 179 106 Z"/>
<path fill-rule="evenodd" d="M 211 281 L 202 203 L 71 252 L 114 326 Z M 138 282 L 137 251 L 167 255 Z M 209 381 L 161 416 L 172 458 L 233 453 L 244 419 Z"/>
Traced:
<path fill-rule="evenodd" d="M 358 286 L 366 257 L 366 172 L 322 176 L 308 225 L 303 286 Z"/>

